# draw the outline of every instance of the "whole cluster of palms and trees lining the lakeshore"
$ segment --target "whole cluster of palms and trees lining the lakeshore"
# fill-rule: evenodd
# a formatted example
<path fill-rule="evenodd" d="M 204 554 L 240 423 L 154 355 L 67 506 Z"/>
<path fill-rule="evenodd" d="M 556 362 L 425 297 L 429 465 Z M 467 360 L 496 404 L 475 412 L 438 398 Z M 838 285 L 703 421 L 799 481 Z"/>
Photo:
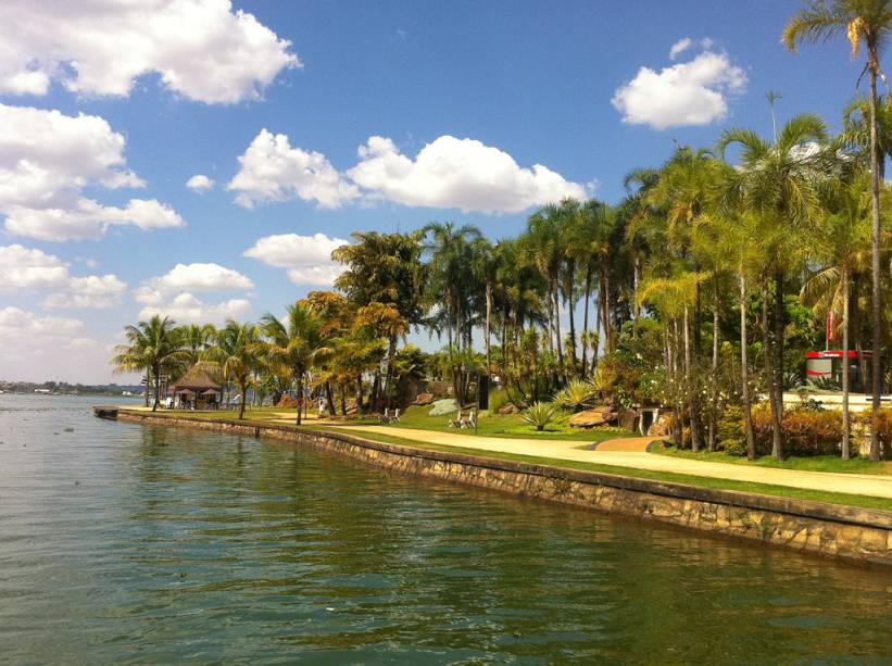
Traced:
<path fill-rule="evenodd" d="M 616 205 L 546 205 L 517 237 L 494 242 L 476 226 L 449 222 L 407 234 L 356 233 L 332 254 L 344 268 L 337 291 L 311 292 L 281 321 L 267 314 L 219 330 L 143 322 L 126 329 L 115 363 L 150 380 L 211 364 L 239 388 L 242 410 L 249 387 L 302 397 L 307 381 L 332 413 L 337 392 L 341 412 L 348 395 L 359 411 L 393 405 L 407 374 L 451 381 L 460 404 L 478 374 L 497 375 L 520 407 L 586 381 L 614 402 L 671 407 L 674 436 L 681 441 L 687 430 L 694 449 L 716 445 L 723 412 L 736 404 L 751 457 L 751 406 L 764 395 L 772 453 L 782 458 L 789 370 L 801 373 L 829 317 L 833 344 L 857 352 L 863 380 L 865 352 L 872 353 L 877 418 L 892 347 L 881 205 L 892 99 L 877 93 L 889 5 L 809 2 L 783 33 L 791 49 L 837 33 L 847 35 L 853 53 L 865 47 L 870 91 L 845 109 L 839 136 L 812 114 L 777 127 L 779 96 L 771 92 L 771 137 L 728 129 L 708 149 L 677 146 L 663 165 L 628 174 Z M 413 329 L 443 349 L 400 348 Z M 847 457 L 847 362 L 841 379 Z"/>

